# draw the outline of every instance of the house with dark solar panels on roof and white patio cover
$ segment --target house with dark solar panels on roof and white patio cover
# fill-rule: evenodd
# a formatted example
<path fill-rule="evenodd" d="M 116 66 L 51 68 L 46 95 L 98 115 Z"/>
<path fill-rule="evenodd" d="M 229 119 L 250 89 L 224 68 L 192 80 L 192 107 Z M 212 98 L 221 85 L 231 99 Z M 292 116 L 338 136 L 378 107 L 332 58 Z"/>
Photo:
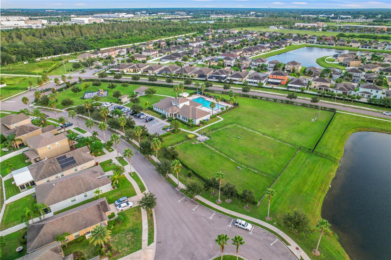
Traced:
<path fill-rule="evenodd" d="M 95 166 L 90 149 L 83 146 L 60 156 L 42 160 L 29 166 L 12 171 L 15 185 L 25 191 L 27 187 L 57 180 L 63 176 Z"/>

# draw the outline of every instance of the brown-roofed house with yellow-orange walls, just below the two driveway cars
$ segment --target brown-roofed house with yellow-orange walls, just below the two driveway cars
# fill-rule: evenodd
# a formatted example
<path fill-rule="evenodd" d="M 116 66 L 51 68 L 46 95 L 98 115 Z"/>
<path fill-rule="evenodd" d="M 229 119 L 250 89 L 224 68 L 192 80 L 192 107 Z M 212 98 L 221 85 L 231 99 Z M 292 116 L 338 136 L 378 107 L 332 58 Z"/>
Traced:
<path fill-rule="evenodd" d="M 70 233 L 68 241 L 85 235 L 91 236 L 91 230 L 97 225 L 107 225 L 111 210 L 106 198 L 100 198 L 52 217 L 27 226 L 27 253 L 51 246 L 56 241 L 56 235 Z"/>

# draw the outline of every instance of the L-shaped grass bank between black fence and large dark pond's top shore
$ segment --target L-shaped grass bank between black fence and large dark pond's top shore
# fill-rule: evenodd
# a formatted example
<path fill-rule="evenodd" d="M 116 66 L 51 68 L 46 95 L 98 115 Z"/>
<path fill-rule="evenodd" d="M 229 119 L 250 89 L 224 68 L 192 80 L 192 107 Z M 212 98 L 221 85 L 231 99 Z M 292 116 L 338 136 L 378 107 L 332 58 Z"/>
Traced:
<path fill-rule="evenodd" d="M 337 113 L 317 145 L 316 151 L 341 158 L 346 140 L 358 131 L 391 133 L 391 122 Z"/>

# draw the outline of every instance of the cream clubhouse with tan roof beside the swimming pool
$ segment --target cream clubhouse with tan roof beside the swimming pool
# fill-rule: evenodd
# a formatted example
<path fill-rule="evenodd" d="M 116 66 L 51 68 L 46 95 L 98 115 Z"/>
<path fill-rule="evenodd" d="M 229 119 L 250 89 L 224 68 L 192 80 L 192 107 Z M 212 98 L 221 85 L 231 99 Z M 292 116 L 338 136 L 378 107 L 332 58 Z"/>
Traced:
<path fill-rule="evenodd" d="M 202 104 L 194 102 L 187 98 L 164 98 L 158 103 L 152 104 L 153 110 L 181 121 L 187 122 L 193 119 L 193 123 L 199 124 L 199 121 L 210 118 L 210 112 L 201 109 Z"/>

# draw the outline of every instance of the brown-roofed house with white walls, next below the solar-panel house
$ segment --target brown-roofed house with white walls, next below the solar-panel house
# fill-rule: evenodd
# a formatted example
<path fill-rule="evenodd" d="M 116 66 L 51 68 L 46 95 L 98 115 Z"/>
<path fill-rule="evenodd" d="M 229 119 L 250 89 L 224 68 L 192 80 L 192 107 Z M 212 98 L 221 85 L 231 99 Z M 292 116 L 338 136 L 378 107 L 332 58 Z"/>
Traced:
<path fill-rule="evenodd" d="M 73 173 L 35 187 L 37 203 L 45 203 L 52 212 L 91 199 L 99 189 L 102 193 L 111 189 L 111 180 L 100 165 Z"/>

